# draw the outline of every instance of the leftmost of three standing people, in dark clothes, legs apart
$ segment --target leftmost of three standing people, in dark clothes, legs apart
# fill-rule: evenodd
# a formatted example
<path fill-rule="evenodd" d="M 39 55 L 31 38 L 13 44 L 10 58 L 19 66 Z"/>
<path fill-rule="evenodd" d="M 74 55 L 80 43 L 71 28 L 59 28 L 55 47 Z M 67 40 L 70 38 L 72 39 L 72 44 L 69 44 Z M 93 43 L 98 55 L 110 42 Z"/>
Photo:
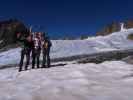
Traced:
<path fill-rule="evenodd" d="M 23 67 L 23 61 L 24 58 L 26 56 L 26 64 L 25 64 L 25 70 L 28 69 L 28 65 L 30 62 L 30 54 L 33 48 L 33 41 L 32 41 L 32 35 L 28 35 L 25 37 L 21 37 L 19 39 L 21 46 L 22 46 L 22 50 L 21 50 L 21 60 L 19 63 L 19 72 L 22 71 L 22 67 Z"/>

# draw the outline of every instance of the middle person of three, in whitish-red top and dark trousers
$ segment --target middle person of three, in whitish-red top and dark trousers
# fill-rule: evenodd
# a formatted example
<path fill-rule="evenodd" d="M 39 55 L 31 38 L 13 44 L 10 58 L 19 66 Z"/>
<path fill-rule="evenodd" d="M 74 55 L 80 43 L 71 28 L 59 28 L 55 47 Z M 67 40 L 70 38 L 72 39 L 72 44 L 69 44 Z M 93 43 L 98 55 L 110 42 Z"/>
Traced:
<path fill-rule="evenodd" d="M 37 63 L 37 68 L 40 68 L 40 53 L 41 53 L 41 33 L 35 33 L 34 37 L 34 47 L 32 50 L 32 69 L 35 68 L 35 63 Z"/>

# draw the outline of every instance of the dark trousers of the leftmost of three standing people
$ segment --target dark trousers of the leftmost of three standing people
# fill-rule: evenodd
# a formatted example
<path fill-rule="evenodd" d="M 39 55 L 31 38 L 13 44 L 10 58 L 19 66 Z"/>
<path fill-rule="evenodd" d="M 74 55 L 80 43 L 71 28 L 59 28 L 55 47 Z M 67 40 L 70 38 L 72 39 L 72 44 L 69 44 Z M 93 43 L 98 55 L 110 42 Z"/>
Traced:
<path fill-rule="evenodd" d="M 22 49 L 22 51 L 21 51 L 21 60 L 20 60 L 20 63 L 19 63 L 19 71 L 22 71 L 25 56 L 26 56 L 25 70 L 27 70 L 29 62 L 30 62 L 30 53 L 31 53 L 30 48 Z"/>

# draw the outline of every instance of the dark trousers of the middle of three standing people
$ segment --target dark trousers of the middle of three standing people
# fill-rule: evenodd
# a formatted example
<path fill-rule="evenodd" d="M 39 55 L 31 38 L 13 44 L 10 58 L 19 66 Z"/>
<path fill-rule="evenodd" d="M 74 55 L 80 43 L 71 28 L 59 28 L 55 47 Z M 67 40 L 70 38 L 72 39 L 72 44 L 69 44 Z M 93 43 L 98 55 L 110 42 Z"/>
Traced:
<path fill-rule="evenodd" d="M 35 63 L 37 62 L 37 68 L 39 68 L 40 66 L 40 53 L 41 50 L 40 49 L 34 49 L 32 51 L 32 68 L 35 68 Z"/>

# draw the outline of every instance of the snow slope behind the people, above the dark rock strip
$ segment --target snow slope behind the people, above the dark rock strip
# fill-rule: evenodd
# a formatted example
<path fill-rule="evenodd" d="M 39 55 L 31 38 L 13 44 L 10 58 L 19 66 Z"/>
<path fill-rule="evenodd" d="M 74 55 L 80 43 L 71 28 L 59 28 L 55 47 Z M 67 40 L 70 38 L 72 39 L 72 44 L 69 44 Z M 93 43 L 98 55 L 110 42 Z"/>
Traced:
<path fill-rule="evenodd" d="M 115 32 L 104 37 L 92 37 L 87 40 L 54 40 L 52 41 L 51 57 L 58 58 L 109 50 L 130 49 L 133 48 L 133 41 L 128 40 L 127 36 L 131 33 L 133 33 L 133 29 Z M 20 48 L 17 48 L 1 53 L 0 65 L 18 63 L 20 50 Z"/>

